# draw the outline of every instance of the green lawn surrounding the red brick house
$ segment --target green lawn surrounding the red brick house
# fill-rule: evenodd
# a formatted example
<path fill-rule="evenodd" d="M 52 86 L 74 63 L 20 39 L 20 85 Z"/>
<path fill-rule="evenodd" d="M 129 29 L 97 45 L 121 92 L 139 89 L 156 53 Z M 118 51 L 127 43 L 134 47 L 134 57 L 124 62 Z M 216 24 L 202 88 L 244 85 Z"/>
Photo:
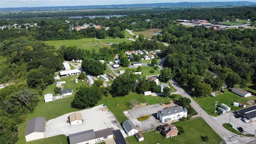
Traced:
<path fill-rule="evenodd" d="M 206 144 L 219 144 L 218 141 L 222 140 L 202 118 L 175 125 L 181 126 L 184 129 L 184 133 L 172 138 L 165 138 L 162 134 L 156 133 L 156 130 L 152 130 L 142 133 L 144 141 L 138 142 L 135 136 L 129 136 L 126 138 L 126 142 L 128 144 L 202 144 L 201 136 L 208 136 L 209 141 Z"/>

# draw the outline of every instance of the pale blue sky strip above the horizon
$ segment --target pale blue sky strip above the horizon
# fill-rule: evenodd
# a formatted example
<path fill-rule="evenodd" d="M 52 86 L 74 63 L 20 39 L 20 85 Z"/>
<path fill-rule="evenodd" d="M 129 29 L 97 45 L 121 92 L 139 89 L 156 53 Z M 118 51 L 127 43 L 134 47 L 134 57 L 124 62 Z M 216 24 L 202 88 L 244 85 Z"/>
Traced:
<path fill-rule="evenodd" d="M 41 6 L 90 6 L 111 4 L 151 4 L 166 2 L 235 2 L 256 0 L 0 0 L 0 8 Z"/>

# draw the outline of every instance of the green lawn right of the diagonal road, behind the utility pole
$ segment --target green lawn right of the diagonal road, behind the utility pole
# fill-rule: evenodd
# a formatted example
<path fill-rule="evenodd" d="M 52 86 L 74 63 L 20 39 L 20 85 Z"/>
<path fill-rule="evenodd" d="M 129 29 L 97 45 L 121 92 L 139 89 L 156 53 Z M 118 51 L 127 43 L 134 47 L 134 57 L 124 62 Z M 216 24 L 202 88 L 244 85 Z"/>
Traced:
<path fill-rule="evenodd" d="M 214 113 L 214 108 L 215 108 L 215 101 L 218 101 L 218 105 L 220 106 L 222 103 L 226 104 L 227 106 L 229 106 L 231 108 L 231 110 L 239 110 L 241 109 L 240 107 L 235 107 L 233 106 L 234 102 L 242 102 L 245 103 L 248 100 L 255 100 L 256 98 L 254 96 L 250 96 L 247 98 L 243 98 L 241 96 L 238 96 L 232 92 L 229 92 L 228 90 L 226 90 L 226 93 L 221 94 L 220 92 L 217 93 L 218 95 L 216 95 L 216 97 L 211 97 L 211 96 L 207 96 L 205 98 L 194 98 L 194 100 L 196 101 L 197 104 L 199 104 L 199 106 L 201 108 L 204 109 L 204 111 L 212 116 L 218 116 L 219 112 L 216 112 L 215 115 Z M 217 107 L 216 107 L 217 108 Z"/>

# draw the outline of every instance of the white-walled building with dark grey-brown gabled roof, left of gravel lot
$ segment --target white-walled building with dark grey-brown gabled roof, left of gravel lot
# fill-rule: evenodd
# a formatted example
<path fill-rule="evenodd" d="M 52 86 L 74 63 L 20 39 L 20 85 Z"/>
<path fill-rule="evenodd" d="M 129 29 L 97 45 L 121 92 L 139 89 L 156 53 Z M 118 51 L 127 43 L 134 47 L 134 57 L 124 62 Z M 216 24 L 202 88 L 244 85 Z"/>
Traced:
<path fill-rule="evenodd" d="M 25 133 L 26 142 L 44 138 L 45 126 L 44 117 L 36 117 L 29 120 Z"/>

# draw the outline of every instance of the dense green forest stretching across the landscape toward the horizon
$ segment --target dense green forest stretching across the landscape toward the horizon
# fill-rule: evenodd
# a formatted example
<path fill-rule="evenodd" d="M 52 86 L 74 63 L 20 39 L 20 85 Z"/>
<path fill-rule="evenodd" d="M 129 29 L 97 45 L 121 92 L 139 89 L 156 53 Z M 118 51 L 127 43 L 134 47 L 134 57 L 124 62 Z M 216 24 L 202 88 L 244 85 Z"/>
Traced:
<path fill-rule="evenodd" d="M 118 13 L 119 12 L 119 13 Z M 195 26 L 186 28 L 174 22 L 176 19 L 215 19 L 219 22 L 230 18 L 256 20 L 256 7 L 215 8 L 152 11 L 100 11 L 67 13 L 18 13 L 1 14 L 0 26 L 0 84 L 12 83 L 0 90 L 0 143 L 14 144 L 18 140 L 16 124 L 22 123 L 20 116 L 33 112 L 42 90 L 54 83 L 54 73 L 61 70 L 63 60 L 80 58 L 85 62 L 105 59 L 112 60 L 119 54 L 120 60 L 127 60 L 126 50 L 161 50 L 158 54 L 165 58 L 164 66 L 180 84 L 194 88 L 195 95 L 204 97 L 211 90 L 219 90 L 224 82 L 232 87 L 238 84 L 246 87 L 247 82 L 256 78 L 256 29 L 228 29 L 225 31 Z M 68 18 L 68 16 L 128 14 L 122 17 L 107 18 Z M 38 18 L 52 17 L 52 18 Z M 60 18 L 57 18 L 60 17 Z M 6 18 L 11 18 L 7 20 Z M 146 22 L 146 19 L 150 19 Z M 67 23 L 65 20 L 69 20 Z M 134 23 L 135 22 L 135 23 Z M 34 24 L 37 25 L 34 25 Z M 100 25 L 109 29 L 86 28 L 80 31 L 75 26 L 83 24 Z M 15 25 L 17 24 L 17 25 Z M 33 25 L 33 26 L 32 26 Z M 17 27 L 18 26 L 18 27 Z M 43 40 L 67 40 L 80 38 L 124 38 L 124 30 L 162 28 L 162 35 L 154 40 L 139 35 L 136 41 L 122 42 L 99 51 L 80 50 L 76 46 L 61 46 L 58 50 Z M 170 45 L 164 46 L 161 42 Z M 136 58 L 136 59 L 135 59 Z M 140 57 L 134 57 L 139 60 Z M 123 64 L 127 64 L 124 62 Z M 88 68 L 86 64 L 82 64 Z M 91 68 L 91 67 L 90 67 Z M 168 68 L 168 69 L 167 69 Z M 102 74 L 106 65 L 98 70 L 88 71 Z M 213 78 L 214 72 L 218 78 Z M 124 75 L 125 76 L 125 75 Z M 121 79 L 117 78 L 117 79 Z M 130 80 L 131 82 L 134 79 Z M 112 89 L 119 90 L 122 84 L 114 82 Z M 140 80 L 140 85 L 144 79 Z M 154 85 L 148 86 L 154 90 Z M 204 91 L 203 91 L 204 89 Z M 142 92 L 131 86 L 128 91 Z M 110 90 L 109 90 L 110 91 Z M 118 91 L 119 92 L 119 91 Z M 114 96 L 120 96 L 115 95 Z"/>

